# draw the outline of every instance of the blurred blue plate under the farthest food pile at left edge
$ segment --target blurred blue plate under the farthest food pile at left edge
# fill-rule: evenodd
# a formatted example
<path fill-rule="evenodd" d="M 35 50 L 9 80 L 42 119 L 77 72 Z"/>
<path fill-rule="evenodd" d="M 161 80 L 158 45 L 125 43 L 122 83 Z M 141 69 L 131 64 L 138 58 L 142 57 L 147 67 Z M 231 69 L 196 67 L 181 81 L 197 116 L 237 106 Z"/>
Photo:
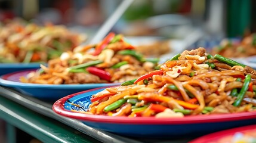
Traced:
<path fill-rule="evenodd" d="M 36 69 L 39 67 L 40 63 L 0 63 L 0 75 L 20 70 Z"/>

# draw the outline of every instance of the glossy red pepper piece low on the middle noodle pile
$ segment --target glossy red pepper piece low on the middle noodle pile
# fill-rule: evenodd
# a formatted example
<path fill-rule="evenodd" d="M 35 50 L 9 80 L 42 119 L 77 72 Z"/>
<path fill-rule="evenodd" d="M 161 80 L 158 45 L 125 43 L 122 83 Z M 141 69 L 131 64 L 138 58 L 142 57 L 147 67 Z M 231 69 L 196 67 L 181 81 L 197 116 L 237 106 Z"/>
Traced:
<path fill-rule="evenodd" d="M 111 79 L 111 76 L 110 76 L 109 72 L 107 72 L 105 70 L 102 70 L 102 69 L 99 69 L 97 67 L 87 67 L 86 70 L 89 73 L 94 74 L 95 76 L 100 77 L 101 79 L 104 79 L 104 80 L 107 80 L 107 81 L 110 81 L 110 79 Z"/>

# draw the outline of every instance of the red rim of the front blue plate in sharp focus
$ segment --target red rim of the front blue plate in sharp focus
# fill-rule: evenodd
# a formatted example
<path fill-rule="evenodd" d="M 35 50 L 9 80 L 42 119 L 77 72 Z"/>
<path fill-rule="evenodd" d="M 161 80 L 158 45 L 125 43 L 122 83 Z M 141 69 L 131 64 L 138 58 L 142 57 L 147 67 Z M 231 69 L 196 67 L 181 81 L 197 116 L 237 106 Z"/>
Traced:
<path fill-rule="evenodd" d="M 64 109 L 64 103 L 76 95 L 85 94 L 98 89 L 109 88 L 95 88 L 87 91 L 78 92 L 76 94 L 67 95 L 60 100 L 54 102 L 53 111 L 62 116 L 78 119 L 82 121 L 99 122 L 99 123 L 122 123 L 122 124 L 143 124 L 143 125 L 177 125 L 177 124 L 194 124 L 194 123 L 218 123 L 218 122 L 231 122 L 236 120 L 256 119 L 256 111 L 232 113 L 232 114 L 212 114 L 212 115 L 198 115 L 186 116 L 177 118 L 155 118 L 155 117 L 111 117 L 104 115 L 75 113 L 70 110 Z"/>

